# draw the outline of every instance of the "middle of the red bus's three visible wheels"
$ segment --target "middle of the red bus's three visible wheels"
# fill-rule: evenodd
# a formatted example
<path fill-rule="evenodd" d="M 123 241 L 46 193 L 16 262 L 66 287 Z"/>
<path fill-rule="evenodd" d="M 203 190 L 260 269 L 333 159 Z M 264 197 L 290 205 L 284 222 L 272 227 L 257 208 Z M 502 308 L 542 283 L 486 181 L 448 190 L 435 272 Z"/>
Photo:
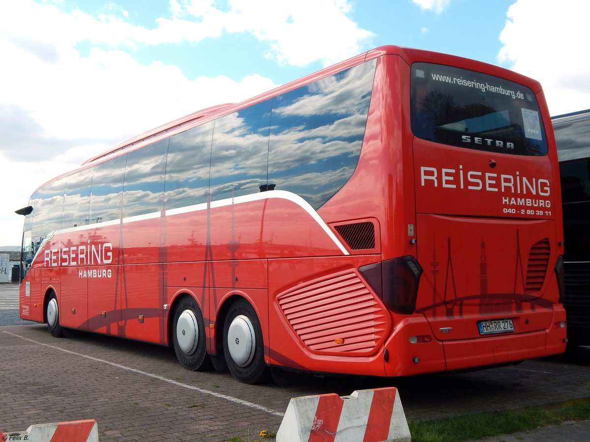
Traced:
<path fill-rule="evenodd" d="M 182 366 L 192 371 L 204 368 L 207 356 L 205 325 L 194 299 L 182 299 L 176 308 L 173 326 L 174 351 Z"/>

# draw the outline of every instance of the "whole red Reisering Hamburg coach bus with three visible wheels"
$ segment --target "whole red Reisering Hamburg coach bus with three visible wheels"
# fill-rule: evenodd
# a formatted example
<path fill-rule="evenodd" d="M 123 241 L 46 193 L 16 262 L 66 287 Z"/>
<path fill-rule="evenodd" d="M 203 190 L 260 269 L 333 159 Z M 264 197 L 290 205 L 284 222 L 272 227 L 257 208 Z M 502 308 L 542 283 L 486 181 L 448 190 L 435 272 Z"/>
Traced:
<path fill-rule="evenodd" d="M 560 203 L 539 83 L 380 47 L 42 185 L 17 211 L 20 316 L 249 383 L 557 354 Z"/>

